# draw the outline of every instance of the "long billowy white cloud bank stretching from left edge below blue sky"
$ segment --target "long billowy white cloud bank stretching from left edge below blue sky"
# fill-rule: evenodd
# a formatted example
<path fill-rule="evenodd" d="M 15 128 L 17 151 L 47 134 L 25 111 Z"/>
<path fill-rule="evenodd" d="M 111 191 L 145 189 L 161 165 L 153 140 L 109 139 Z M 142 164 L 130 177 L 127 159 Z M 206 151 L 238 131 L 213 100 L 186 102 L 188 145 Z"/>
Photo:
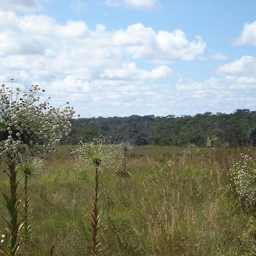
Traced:
<path fill-rule="evenodd" d="M 92 30 L 83 21 L 59 24 L 47 15 L 0 11 L 0 28 L 1 68 L 24 69 L 36 79 L 46 79 L 47 73 L 51 79 L 70 73 L 97 77 L 127 58 L 146 57 L 159 63 L 200 59 L 205 49 L 203 40 L 189 42 L 183 31 L 155 32 L 143 24 L 118 31 L 106 31 L 98 24 Z"/>

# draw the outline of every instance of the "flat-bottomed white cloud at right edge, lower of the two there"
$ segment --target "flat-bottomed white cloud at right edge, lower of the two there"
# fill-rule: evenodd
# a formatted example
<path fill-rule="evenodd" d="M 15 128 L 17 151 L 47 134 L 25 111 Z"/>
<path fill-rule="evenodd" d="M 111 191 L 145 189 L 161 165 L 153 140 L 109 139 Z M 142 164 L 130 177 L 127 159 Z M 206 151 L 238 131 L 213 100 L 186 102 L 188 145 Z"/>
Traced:
<path fill-rule="evenodd" d="M 238 60 L 218 67 L 216 72 L 222 75 L 256 76 L 256 58 L 242 56 Z"/>

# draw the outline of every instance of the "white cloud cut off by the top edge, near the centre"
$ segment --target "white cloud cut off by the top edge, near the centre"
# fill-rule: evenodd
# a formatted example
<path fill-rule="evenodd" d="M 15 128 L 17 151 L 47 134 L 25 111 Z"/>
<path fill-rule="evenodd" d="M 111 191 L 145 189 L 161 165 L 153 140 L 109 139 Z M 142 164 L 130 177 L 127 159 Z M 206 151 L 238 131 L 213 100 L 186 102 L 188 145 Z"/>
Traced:
<path fill-rule="evenodd" d="M 160 7 L 159 0 L 106 0 L 105 3 L 109 6 L 125 6 L 142 11 L 155 11 Z"/>

